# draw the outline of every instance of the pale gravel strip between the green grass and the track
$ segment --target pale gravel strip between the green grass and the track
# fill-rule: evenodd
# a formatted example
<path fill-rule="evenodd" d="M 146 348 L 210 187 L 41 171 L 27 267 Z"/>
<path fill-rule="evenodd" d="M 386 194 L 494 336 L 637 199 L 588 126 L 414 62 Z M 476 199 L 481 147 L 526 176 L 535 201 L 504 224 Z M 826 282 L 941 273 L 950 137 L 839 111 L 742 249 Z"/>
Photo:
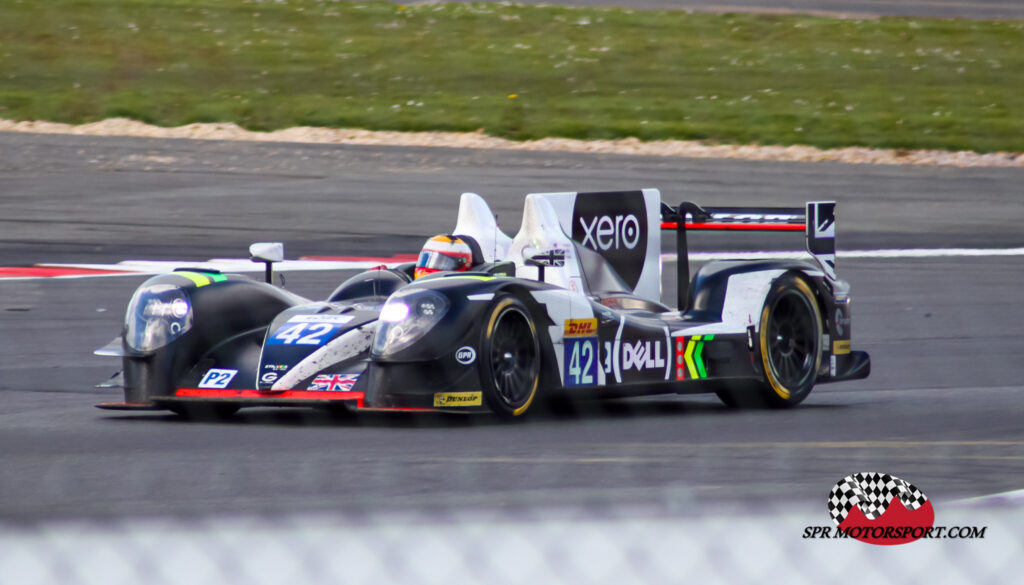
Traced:
<path fill-rule="evenodd" d="M 276 142 L 316 142 L 331 144 L 389 144 L 399 147 L 446 147 L 463 149 L 504 149 L 512 151 L 563 151 L 699 159 L 743 159 L 755 161 L 815 162 L 835 161 L 874 165 L 933 165 L 954 167 L 1024 167 L 1024 153 L 986 153 L 969 151 L 906 151 L 887 149 L 821 150 L 794 144 L 790 147 L 757 144 L 713 144 L 697 140 L 656 140 L 637 138 L 615 140 L 574 140 L 543 138 L 515 141 L 488 136 L 482 132 L 388 132 L 350 128 L 297 127 L 273 132 L 253 132 L 230 123 L 188 124 L 161 128 L 124 118 L 112 118 L 82 125 L 55 122 L 0 120 L 2 132 L 42 134 L 78 134 L 89 136 L 141 136 L 152 138 L 197 138 L 209 140 L 255 140 Z"/>

